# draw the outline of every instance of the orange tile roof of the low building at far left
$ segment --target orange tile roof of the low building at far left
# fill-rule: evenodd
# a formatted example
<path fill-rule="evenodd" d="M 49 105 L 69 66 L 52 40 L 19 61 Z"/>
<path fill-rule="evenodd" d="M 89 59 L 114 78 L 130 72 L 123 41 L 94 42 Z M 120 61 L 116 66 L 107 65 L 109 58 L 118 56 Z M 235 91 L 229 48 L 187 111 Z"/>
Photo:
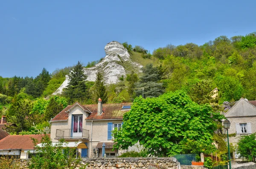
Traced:
<path fill-rule="evenodd" d="M 31 138 L 38 140 L 41 143 L 41 139 L 44 135 L 8 135 L 0 140 L 0 150 L 6 149 L 34 149 L 34 144 Z"/>

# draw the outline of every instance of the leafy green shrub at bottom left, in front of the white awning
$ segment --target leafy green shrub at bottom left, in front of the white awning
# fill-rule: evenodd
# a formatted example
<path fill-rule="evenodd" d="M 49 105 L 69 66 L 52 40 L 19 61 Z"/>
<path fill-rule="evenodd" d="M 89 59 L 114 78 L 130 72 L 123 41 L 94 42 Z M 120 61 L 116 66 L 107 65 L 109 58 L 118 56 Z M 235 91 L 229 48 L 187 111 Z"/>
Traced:
<path fill-rule="evenodd" d="M 33 142 L 37 153 L 32 156 L 29 169 L 74 169 L 81 160 L 76 159 L 76 149 L 63 147 L 66 144 L 63 140 L 52 145 L 49 136 L 45 135 L 41 147 L 37 145 L 37 140 L 33 139 Z"/>

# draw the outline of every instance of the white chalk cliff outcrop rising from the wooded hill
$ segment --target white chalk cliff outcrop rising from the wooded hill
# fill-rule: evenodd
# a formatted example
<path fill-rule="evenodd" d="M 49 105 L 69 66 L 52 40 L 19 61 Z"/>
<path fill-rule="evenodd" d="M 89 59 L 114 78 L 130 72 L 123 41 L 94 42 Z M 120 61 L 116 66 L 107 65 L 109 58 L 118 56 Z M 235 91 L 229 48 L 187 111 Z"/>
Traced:
<path fill-rule="evenodd" d="M 84 68 L 84 74 L 87 75 L 87 81 L 95 82 L 96 73 L 98 71 L 103 71 L 105 83 L 108 85 L 114 84 L 119 82 L 119 77 L 125 77 L 127 73 L 130 73 L 130 70 L 140 71 L 140 68 L 143 67 L 142 65 L 131 61 L 127 49 L 119 42 L 110 42 L 104 49 L 106 56 L 99 63 L 92 68 Z M 66 80 L 52 94 L 61 94 L 68 83 L 69 77 L 66 75 Z"/>

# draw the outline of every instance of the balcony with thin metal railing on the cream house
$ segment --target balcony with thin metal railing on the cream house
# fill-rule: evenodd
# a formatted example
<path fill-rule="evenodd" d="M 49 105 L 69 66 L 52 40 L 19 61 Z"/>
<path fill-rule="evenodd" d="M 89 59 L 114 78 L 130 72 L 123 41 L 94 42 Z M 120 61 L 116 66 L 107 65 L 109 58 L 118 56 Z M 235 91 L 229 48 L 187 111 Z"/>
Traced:
<path fill-rule="evenodd" d="M 85 129 L 56 129 L 56 139 L 65 140 L 89 140 L 89 130 Z"/>

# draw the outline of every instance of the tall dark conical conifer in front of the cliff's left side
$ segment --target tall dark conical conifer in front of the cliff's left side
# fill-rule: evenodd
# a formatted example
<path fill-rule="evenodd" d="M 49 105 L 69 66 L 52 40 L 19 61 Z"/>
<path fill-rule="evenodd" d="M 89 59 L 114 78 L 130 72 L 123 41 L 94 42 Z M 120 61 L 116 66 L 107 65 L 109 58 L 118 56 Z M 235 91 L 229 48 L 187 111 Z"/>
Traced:
<path fill-rule="evenodd" d="M 89 96 L 86 83 L 87 76 L 84 74 L 84 70 L 80 62 L 78 62 L 70 72 L 69 79 L 69 84 L 64 88 L 64 95 L 70 99 L 70 102 L 87 100 Z"/>

